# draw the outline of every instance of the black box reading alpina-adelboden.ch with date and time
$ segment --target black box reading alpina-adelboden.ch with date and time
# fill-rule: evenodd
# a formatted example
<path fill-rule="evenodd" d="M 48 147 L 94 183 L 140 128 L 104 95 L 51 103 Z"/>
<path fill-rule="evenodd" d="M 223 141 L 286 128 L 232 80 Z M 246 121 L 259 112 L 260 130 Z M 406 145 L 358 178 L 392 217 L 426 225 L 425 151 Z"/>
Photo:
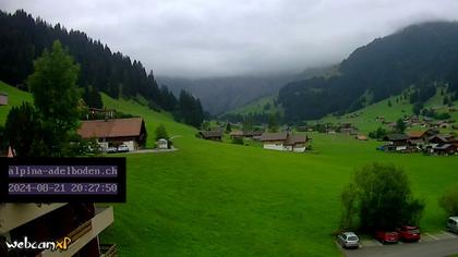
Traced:
<path fill-rule="evenodd" d="M 125 203 L 125 158 L 0 158 L 0 203 Z"/>

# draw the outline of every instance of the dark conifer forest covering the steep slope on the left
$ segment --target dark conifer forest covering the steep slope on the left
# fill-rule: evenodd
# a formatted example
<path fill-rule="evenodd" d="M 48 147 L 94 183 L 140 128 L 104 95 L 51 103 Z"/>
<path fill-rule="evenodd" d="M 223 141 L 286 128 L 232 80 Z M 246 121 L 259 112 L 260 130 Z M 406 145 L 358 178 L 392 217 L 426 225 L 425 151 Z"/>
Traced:
<path fill-rule="evenodd" d="M 153 71 L 146 72 L 137 60 L 131 60 L 121 52 L 112 52 L 107 45 L 89 38 L 85 33 L 68 30 L 60 24 L 51 26 L 41 19 L 33 19 L 23 10 L 14 14 L 0 11 L 0 79 L 27 90 L 27 76 L 34 70 L 34 60 L 45 48 L 59 40 L 80 66 L 76 85 L 83 88 L 87 106 L 101 108 L 100 91 L 112 98 L 137 98 L 142 96 L 154 110 L 176 113 L 177 118 L 192 125 L 203 120 L 200 100 L 177 99 L 167 86 L 156 83 Z M 181 96 L 181 94 L 180 94 Z M 183 105 L 179 105 L 183 101 Z M 192 115 L 186 108 L 196 109 Z M 198 111 L 202 110 L 202 111 Z M 196 113 L 198 112 L 198 113 Z M 191 115 L 191 114 L 190 114 Z M 196 118 L 198 117 L 198 118 Z"/>

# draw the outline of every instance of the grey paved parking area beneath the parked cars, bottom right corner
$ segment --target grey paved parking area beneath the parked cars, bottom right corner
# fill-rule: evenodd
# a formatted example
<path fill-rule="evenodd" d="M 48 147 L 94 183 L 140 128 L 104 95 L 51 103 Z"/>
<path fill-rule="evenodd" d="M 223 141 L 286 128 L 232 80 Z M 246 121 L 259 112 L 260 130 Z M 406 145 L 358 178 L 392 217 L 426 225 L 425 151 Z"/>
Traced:
<path fill-rule="evenodd" d="M 340 247 L 340 245 L 339 245 Z M 422 233 L 418 243 L 402 243 L 384 245 L 372 237 L 362 237 L 359 249 L 342 249 L 348 257 L 385 256 L 385 257 L 434 257 L 458 254 L 458 235 L 441 231 L 437 233 Z"/>

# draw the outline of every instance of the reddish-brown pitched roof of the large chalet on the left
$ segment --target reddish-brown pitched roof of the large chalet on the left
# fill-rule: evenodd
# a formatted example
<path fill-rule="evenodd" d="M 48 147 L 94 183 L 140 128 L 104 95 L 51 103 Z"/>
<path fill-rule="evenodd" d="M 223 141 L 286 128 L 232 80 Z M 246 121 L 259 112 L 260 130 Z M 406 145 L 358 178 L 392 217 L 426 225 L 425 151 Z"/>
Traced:
<path fill-rule="evenodd" d="M 83 138 L 140 136 L 142 126 L 142 118 L 83 121 L 77 134 Z"/>

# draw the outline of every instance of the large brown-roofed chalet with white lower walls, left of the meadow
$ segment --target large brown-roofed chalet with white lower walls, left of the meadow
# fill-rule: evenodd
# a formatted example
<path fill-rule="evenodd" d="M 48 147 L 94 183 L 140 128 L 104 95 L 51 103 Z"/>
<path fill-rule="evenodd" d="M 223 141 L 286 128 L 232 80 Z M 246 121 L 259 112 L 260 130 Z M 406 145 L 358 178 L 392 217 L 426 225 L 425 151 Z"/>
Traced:
<path fill-rule="evenodd" d="M 83 121 L 77 133 L 83 138 L 96 138 L 103 149 L 126 145 L 133 151 L 146 143 L 146 126 L 142 118 Z"/>

